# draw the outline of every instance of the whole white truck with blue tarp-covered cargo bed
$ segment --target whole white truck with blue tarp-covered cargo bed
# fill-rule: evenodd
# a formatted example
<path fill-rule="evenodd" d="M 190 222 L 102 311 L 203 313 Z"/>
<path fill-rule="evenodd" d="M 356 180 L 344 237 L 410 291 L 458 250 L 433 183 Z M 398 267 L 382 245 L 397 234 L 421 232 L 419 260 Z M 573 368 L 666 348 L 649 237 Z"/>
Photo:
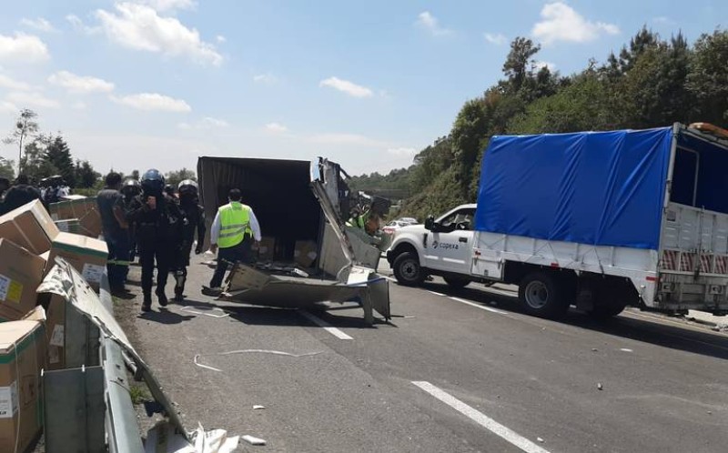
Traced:
<path fill-rule="evenodd" d="M 696 127 L 495 136 L 478 203 L 402 227 L 400 285 L 520 287 L 524 309 L 728 313 L 728 140 Z"/>

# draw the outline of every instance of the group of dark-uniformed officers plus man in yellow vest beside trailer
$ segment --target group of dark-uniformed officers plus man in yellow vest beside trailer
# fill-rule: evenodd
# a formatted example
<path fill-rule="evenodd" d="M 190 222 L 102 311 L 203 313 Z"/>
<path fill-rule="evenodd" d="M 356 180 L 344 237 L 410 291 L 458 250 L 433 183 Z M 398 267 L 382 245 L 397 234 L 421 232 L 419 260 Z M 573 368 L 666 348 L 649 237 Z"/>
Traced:
<path fill-rule="evenodd" d="M 165 177 L 156 169 L 147 170 L 139 181 L 123 181 L 114 172 L 106 176 L 106 187 L 96 201 L 109 251 L 107 270 L 113 293 L 126 293 L 129 264 L 138 257 L 142 311 L 152 308 L 153 288 L 159 306 L 167 306 L 169 274 L 175 279 L 174 299 L 184 300 L 192 247 L 197 243 L 195 254 L 202 253 L 207 232 L 198 195 L 195 181 L 186 179 L 177 187 L 166 185 Z M 217 252 L 217 268 L 209 287 L 203 288 L 204 294 L 218 295 L 227 263 L 251 262 L 252 245 L 261 239 L 258 219 L 241 198 L 238 189 L 231 189 L 227 205 L 217 209 L 210 231 L 210 250 Z"/>

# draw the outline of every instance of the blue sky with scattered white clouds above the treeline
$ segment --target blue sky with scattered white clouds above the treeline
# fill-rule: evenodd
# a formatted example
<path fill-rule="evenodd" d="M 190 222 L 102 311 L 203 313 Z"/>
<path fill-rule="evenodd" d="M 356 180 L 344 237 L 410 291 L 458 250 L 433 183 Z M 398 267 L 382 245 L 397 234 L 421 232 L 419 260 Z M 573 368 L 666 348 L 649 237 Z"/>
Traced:
<path fill-rule="evenodd" d="M 728 23 L 724 0 L 6 3 L 0 130 L 34 109 L 101 172 L 194 168 L 197 156 L 386 172 L 448 133 L 501 77 L 515 36 L 571 74 L 642 25 L 692 42 Z"/>

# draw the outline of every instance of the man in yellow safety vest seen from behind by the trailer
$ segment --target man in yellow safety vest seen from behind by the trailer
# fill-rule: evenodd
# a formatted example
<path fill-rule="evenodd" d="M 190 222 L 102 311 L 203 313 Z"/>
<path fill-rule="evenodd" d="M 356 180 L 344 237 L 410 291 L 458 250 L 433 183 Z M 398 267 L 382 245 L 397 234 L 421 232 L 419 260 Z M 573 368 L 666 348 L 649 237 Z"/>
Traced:
<path fill-rule="evenodd" d="M 229 203 L 217 209 L 210 229 L 210 250 L 217 252 L 217 267 L 210 281 L 210 290 L 219 292 L 227 263 L 240 261 L 249 264 L 253 241 L 260 242 L 260 225 L 250 206 L 240 203 L 242 195 L 237 188 L 227 194 Z"/>

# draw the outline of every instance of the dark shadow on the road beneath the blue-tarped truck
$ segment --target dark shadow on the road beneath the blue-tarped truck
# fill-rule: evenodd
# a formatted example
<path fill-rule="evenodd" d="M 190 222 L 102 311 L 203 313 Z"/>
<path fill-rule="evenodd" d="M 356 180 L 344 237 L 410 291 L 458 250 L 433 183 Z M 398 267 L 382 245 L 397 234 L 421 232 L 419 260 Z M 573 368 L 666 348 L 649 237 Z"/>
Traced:
<path fill-rule="evenodd" d="M 517 297 L 490 292 L 488 288 L 466 287 L 461 290 L 452 290 L 447 285 L 439 283 L 428 283 L 423 287 L 450 297 L 460 297 L 482 306 L 497 307 L 504 311 L 528 316 L 521 309 Z M 495 306 L 491 302 L 495 302 Z M 708 331 L 695 330 L 687 327 L 687 325 L 686 327 L 680 327 L 664 324 L 657 319 L 654 321 L 635 319 L 624 315 L 597 321 L 574 308 L 571 308 L 565 317 L 555 322 L 615 337 L 630 338 L 659 347 L 669 347 L 702 356 L 728 359 L 728 337 L 715 335 Z"/>

